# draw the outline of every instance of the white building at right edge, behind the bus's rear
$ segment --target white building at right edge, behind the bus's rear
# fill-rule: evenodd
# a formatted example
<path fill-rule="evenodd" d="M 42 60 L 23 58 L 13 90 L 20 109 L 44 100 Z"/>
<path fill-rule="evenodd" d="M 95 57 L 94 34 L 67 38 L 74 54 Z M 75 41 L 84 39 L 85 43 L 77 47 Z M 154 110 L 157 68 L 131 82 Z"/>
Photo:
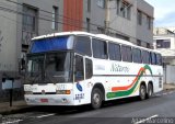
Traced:
<path fill-rule="evenodd" d="M 175 27 L 154 27 L 154 48 L 163 56 L 164 82 L 175 83 Z"/>

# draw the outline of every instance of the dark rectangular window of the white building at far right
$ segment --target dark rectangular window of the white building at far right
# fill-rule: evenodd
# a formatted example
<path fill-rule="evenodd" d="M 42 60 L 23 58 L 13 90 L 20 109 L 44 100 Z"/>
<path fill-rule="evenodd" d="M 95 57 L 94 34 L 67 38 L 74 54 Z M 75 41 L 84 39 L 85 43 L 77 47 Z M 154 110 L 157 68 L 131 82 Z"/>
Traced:
<path fill-rule="evenodd" d="M 171 40 L 156 40 L 156 48 L 170 48 Z"/>

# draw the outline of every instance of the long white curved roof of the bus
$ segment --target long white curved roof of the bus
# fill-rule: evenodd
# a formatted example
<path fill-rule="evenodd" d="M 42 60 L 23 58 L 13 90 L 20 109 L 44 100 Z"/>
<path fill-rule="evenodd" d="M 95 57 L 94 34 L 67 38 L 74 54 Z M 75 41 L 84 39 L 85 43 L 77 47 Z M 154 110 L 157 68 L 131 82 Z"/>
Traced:
<path fill-rule="evenodd" d="M 155 49 L 149 49 L 145 47 L 141 47 L 141 46 L 137 46 L 128 41 L 121 40 L 121 38 L 117 38 L 117 37 L 112 37 L 112 36 L 107 36 L 105 34 L 92 34 L 92 33 L 88 33 L 88 32 L 59 32 L 59 33 L 52 33 L 52 34 L 47 34 L 47 35 L 40 35 L 40 36 L 36 36 L 34 38 L 32 38 L 32 41 L 34 40 L 43 40 L 43 38 L 48 38 L 48 37 L 57 37 L 57 36 L 65 36 L 65 35 L 88 35 L 88 36 L 92 36 L 92 37 L 96 37 L 96 38 L 101 38 L 101 40 L 106 40 L 109 42 L 114 42 L 114 43 L 118 43 L 118 44 L 124 44 L 124 45 L 129 45 L 132 47 L 137 47 L 137 48 L 141 48 L 144 50 L 149 50 L 149 52 L 155 52 L 155 53 L 160 53 Z"/>

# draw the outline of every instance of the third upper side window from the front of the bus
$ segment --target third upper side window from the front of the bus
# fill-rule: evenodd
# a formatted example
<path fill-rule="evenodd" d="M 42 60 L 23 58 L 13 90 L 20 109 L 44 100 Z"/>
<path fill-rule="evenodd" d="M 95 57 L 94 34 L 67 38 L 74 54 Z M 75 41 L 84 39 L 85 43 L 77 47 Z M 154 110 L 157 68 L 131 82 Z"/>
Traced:
<path fill-rule="evenodd" d="M 108 54 L 110 60 L 121 60 L 120 45 L 108 43 Z"/>

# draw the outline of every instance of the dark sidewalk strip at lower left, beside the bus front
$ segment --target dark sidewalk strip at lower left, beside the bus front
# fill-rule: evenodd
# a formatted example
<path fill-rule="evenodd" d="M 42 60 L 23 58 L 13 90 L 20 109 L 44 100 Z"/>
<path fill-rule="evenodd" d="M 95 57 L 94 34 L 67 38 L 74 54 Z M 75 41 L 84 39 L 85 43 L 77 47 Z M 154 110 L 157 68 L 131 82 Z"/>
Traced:
<path fill-rule="evenodd" d="M 9 102 L 0 102 L 0 114 L 13 113 L 16 111 L 22 111 L 28 109 L 25 101 L 13 101 L 12 106 L 10 106 Z"/>

